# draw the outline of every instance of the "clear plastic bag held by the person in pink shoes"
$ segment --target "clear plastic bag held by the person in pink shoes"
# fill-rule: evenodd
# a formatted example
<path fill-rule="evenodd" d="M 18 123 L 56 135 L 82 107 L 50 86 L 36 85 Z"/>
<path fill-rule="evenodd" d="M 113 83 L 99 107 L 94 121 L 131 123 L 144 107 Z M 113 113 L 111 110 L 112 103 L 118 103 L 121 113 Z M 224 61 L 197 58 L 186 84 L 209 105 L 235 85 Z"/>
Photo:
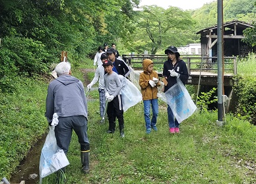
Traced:
<path fill-rule="evenodd" d="M 164 93 L 164 96 L 178 123 L 187 119 L 197 109 L 189 92 L 187 92 L 179 78 L 177 78 L 177 83 Z"/>

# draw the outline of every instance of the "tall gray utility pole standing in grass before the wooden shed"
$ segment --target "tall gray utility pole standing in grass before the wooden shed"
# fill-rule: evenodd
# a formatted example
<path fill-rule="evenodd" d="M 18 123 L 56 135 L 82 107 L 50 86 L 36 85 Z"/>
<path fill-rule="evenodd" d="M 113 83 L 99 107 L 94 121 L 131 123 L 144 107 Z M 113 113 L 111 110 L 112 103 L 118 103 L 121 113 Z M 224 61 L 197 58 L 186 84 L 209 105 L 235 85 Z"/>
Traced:
<path fill-rule="evenodd" d="M 222 84 L 223 84 L 223 78 L 222 78 L 222 71 L 223 71 L 223 54 L 222 54 L 222 45 L 223 45 L 223 0 L 218 0 L 218 23 L 217 23 L 217 61 L 218 61 L 218 120 L 217 125 L 222 126 L 223 125 L 223 99 L 222 99 Z"/>

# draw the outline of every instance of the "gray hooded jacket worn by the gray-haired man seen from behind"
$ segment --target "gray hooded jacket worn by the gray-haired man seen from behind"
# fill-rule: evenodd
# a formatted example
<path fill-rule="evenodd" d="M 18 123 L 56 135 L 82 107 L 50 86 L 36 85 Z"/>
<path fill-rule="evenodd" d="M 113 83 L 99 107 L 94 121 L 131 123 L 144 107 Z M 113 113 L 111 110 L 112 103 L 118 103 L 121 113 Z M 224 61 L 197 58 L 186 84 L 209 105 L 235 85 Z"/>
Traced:
<path fill-rule="evenodd" d="M 53 113 L 59 117 L 83 115 L 87 118 L 87 101 L 82 82 L 71 76 L 61 75 L 51 81 L 46 97 L 46 117 L 52 121 Z"/>

